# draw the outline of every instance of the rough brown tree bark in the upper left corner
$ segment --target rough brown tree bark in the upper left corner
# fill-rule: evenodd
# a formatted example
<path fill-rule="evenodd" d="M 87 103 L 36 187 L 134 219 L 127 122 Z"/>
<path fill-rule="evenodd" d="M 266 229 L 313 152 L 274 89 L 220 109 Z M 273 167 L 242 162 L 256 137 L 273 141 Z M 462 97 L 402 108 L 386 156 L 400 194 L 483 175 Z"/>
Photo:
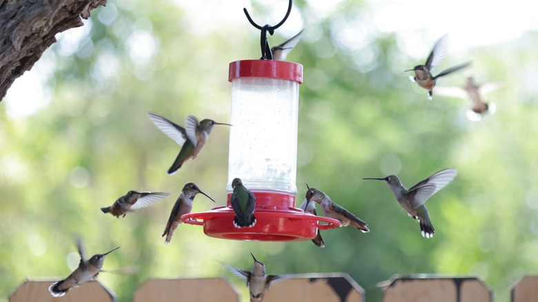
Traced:
<path fill-rule="evenodd" d="M 0 101 L 30 70 L 59 32 L 82 26 L 81 17 L 106 0 L 0 0 Z M 32 88 L 28 88 L 32 89 Z"/>

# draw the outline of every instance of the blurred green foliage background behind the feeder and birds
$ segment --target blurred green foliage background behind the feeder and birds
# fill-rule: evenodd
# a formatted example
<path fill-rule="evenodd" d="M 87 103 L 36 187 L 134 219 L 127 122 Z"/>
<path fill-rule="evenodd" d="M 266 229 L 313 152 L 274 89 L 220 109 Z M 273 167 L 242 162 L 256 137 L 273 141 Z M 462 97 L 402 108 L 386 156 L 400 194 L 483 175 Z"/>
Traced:
<path fill-rule="evenodd" d="M 428 101 L 426 91 L 408 81 L 402 71 L 423 59 L 403 54 L 396 33 L 372 28 L 371 10 L 359 1 L 340 1 L 327 16 L 296 1 L 290 19 L 300 16 L 306 30 L 288 60 L 304 66 L 297 199 L 308 182 L 368 221 L 371 232 L 323 232 L 326 248 L 320 249 L 310 241 L 212 239 L 199 227 L 180 225 L 164 245 L 159 235 L 184 183 L 194 181 L 218 205 L 226 202 L 228 130 L 215 128 L 200 157 L 169 177 L 179 147 L 146 116 L 159 112 L 178 123 L 188 114 L 229 120 L 228 63 L 257 59 L 259 32 L 243 17 L 242 4 L 222 2 L 229 3 L 205 10 L 236 15 L 193 15 L 188 4 L 169 1 L 109 1 L 94 10 L 76 48 L 69 52 L 60 39 L 43 55 L 53 71 L 45 108 L 11 119 L 0 103 L 0 296 L 7 299 L 26 276 L 67 276 L 78 262 L 73 234 L 81 234 L 87 254 L 121 245 L 106 259 L 107 270 L 139 265 L 137 274 L 99 276 L 119 301 L 131 301 L 149 278 L 189 276 L 228 276 L 245 296 L 243 283 L 218 261 L 248 269 L 248 252 L 266 263 L 269 274 L 347 272 L 366 289 L 368 301 L 381 299 L 376 283 L 393 274 L 479 276 L 497 301 L 508 300 L 521 276 L 537 274 L 536 90 L 514 70 L 535 77 L 538 36 L 529 32 L 510 43 L 455 53 L 449 48 L 444 67 L 470 58 L 468 72 L 477 81 L 504 82 L 488 95 L 497 113 L 471 122 L 464 100 Z M 281 10 L 252 6 L 259 23 L 281 18 Z M 286 25 L 289 34 L 277 32 L 272 45 L 301 29 Z M 368 34 L 350 47 L 341 37 L 353 26 Z M 155 51 L 144 57 L 136 51 L 148 37 Z M 421 56 L 434 42 L 424 41 Z M 145 59 L 137 60 L 140 55 Z M 107 66 L 117 68 L 103 72 Z M 463 85 L 463 74 L 442 83 Z M 397 173 L 410 187 L 447 167 L 459 169 L 457 178 L 427 203 L 434 239 L 421 237 L 417 221 L 386 185 L 362 180 Z M 101 213 L 131 189 L 172 196 L 124 219 Z M 197 197 L 193 211 L 213 206 Z"/>

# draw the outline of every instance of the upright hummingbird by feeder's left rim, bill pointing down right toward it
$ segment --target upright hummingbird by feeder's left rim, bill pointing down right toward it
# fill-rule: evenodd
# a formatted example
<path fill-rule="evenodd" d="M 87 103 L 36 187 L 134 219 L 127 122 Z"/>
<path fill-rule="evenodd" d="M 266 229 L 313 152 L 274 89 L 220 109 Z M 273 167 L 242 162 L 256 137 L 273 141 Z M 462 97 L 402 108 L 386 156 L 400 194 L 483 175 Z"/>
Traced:
<path fill-rule="evenodd" d="M 166 228 L 164 228 L 164 232 L 161 235 L 161 237 L 166 235 L 164 243 L 168 244 L 170 239 L 172 239 L 172 235 L 174 234 L 177 225 L 181 223 L 181 216 L 190 213 L 192 210 L 192 201 L 195 200 L 195 196 L 198 193 L 205 195 L 208 199 L 215 202 L 215 200 L 209 197 L 208 194 L 202 192 L 195 183 L 186 183 L 186 185 L 183 186 L 183 190 L 181 190 L 181 194 L 179 194 L 174 207 L 172 208 L 172 212 L 170 212 L 168 223 L 166 223 Z"/>

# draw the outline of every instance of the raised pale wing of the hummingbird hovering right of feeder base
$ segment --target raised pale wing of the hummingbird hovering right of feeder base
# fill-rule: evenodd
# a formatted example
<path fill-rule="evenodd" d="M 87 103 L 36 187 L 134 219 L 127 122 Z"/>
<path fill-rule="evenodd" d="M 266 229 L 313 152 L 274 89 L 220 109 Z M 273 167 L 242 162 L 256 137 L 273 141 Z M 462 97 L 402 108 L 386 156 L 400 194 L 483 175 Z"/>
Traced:
<path fill-rule="evenodd" d="M 416 185 L 413 185 L 406 194 L 410 197 L 414 197 L 410 199 L 412 200 L 411 205 L 413 208 L 416 209 L 421 204 L 424 204 L 430 197 L 432 197 L 433 194 L 444 188 L 445 185 L 448 185 L 448 183 L 450 183 L 450 181 L 452 181 L 456 175 L 457 170 L 455 168 L 448 168 L 433 174 Z"/>

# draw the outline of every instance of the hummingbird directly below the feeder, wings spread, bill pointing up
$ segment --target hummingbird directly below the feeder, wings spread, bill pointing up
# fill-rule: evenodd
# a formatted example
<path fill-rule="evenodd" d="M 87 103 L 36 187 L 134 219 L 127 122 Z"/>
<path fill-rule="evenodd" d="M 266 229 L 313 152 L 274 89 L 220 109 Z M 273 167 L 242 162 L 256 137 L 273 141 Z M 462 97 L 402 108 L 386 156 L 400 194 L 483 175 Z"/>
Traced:
<path fill-rule="evenodd" d="M 271 283 L 278 283 L 288 278 L 286 275 L 266 275 L 266 265 L 256 259 L 254 254 L 250 253 L 254 259 L 254 266 L 252 272 L 246 270 L 239 270 L 238 268 L 232 268 L 226 265 L 226 268 L 235 274 L 239 278 L 246 280 L 246 285 L 250 292 L 250 302 L 261 302 L 263 296 L 266 294 L 266 290 L 269 290 Z"/>

